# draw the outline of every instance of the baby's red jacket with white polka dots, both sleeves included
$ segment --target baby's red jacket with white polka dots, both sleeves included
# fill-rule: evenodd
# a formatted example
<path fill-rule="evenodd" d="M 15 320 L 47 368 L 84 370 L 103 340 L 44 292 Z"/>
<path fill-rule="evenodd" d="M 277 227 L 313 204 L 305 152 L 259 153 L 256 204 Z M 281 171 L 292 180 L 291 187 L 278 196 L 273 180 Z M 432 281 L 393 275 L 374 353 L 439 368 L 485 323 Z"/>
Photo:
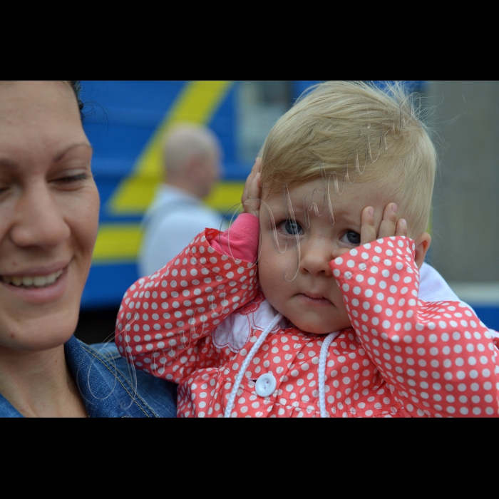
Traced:
<path fill-rule="evenodd" d="M 139 279 L 123 298 L 116 344 L 138 369 L 175 381 L 178 414 L 222 417 L 232 384 L 267 324 L 256 267 L 210 246 L 206 230 L 177 259 Z M 391 237 L 331 262 L 354 329 L 327 351 L 329 417 L 497 416 L 496 350 L 468 308 L 418 301 L 413 241 Z M 265 312 L 267 313 L 267 312 Z M 213 344 L 229 314 L 247 327 L 237 351 Z M 268 315 L 265 316 L 269 321 Z M 243 376 L 232 416 L 319 417 L 318 364 L 326 336 L 281 324 L 263 341 Z M 255 383 L 272 374 L 272 395 Z"/>

